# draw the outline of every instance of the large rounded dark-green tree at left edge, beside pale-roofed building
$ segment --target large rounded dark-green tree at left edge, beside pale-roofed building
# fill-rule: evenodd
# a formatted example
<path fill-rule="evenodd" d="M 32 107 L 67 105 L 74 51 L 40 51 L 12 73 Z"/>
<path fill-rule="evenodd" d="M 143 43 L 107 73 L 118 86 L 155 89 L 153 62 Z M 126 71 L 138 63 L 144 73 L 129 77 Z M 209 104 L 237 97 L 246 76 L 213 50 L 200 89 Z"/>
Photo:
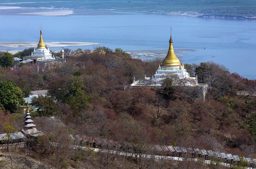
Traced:
<path fill-rule="evenodd" d="M 13 111 L 18 104 L 23 104 L 22 90 L 11 81 L 0 81 L 0 107 L 3 111 Z"/>

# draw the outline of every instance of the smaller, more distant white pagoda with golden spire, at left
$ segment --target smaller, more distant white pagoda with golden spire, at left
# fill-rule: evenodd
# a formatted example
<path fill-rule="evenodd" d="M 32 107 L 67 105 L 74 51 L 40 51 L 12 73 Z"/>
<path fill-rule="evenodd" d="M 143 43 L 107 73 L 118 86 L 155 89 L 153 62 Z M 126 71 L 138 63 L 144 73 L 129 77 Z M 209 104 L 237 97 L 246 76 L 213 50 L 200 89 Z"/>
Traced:
<path fill-rule="evenodd" d="M 31 56 L 24 56 L 23 61 L 31 59 L 35 61 L 54 61 L 55 58 L 52 56 L 52 52 L 50 51 L 49 48 L 46 48 L 42 36 L 42 29 L 40 30 L 40 40 L 37 45 L 37 49 L 34 49 L 34 51 L 31 53 Z"/>

